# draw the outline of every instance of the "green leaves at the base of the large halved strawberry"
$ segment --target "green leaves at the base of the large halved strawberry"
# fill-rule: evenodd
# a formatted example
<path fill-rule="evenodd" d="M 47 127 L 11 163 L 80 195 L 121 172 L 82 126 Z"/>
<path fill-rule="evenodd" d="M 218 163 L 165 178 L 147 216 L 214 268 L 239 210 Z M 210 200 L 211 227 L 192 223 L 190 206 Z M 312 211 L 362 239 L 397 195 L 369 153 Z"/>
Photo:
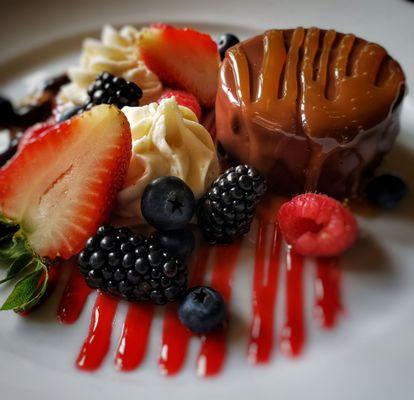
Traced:
<path fill-rule="evenodd" d="M 14 289 L 0 310 L 23 312 L 34 307 L 47 288 L 47 264 L 31 249 L 20 227 L 1 214 L 0 263 L 7 268 L 0 284 L 16 280 Z"/>

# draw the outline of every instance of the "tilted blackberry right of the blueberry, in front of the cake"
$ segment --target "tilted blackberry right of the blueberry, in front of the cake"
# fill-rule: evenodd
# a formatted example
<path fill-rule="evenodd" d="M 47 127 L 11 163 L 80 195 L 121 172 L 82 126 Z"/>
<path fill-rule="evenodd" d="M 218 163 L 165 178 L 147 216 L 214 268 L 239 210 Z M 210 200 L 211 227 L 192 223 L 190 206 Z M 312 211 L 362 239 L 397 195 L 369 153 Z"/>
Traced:
<path fill-rule="evenodd" d="M 218 177 L 200 200 L 198 226 L 212 244 L 228 244 L 250 230 L 255 206 L 266 191 L 263 176 L 238 165 Z"/>

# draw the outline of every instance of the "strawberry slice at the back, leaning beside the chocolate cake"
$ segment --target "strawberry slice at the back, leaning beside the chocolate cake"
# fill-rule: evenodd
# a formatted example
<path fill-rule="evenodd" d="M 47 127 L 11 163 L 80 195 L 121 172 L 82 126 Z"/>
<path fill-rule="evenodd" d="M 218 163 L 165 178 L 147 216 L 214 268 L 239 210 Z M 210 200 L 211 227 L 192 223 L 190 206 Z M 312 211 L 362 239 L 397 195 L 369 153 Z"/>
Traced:
<path fill-rule="evenodd" d="M 220 56 L 210 35 L 156 24 L 141 31 L 139 48 L 165 85 L 192 93 L 203 106 L 214 105 Z"/>

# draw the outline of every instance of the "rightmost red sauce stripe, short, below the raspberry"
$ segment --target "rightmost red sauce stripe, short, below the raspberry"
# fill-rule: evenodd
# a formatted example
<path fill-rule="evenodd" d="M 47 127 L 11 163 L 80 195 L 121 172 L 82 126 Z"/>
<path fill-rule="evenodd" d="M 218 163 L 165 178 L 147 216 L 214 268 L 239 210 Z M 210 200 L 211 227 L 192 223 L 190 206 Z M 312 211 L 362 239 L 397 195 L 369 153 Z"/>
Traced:
<path fill-rule="evenodd" d="M 337 258 L 316 261 L 314 315 L 320 326 L 332 329 L 343 312 L 341 270 Z"/>

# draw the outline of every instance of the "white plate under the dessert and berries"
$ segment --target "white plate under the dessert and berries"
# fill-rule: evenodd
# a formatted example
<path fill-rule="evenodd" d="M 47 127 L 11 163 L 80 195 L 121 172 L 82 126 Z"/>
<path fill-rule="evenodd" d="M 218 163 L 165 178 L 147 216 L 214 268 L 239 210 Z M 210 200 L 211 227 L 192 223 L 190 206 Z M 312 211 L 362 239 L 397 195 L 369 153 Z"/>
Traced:
<path fill-rule="evenodd" d="M 4 6 L 2 6 L 3 8 Z M 2 11 L 3 12 L 3 11 Z M 83 36 L 104 23 L 191 24 L 213 35 L 223 31 L 247 37 L 269 27 L 297 25 L 352 31 L 385 45 L 401 61 L 414 85 L 414 4 L 375 1 L 125 1 L 73 0 L 8 2 L 0 24 L 1 91 L 13 98 L 27 87 L 74 62 Z M 403 175 L 414 187 L 414 99 L 404 104 L 402 132 L 384 169 Z M 59 325 L 55 307 L 60 291 L 30 318 L 0 314 L 1 399 L 408 399 L 414 393 L 414 209 L 412 195 L 397 211 L 361 219 L 363 238 L 344 261 L 347 315 L 332 332 L 311 318 L 311 267 L 306 272 L 308 341 L 303 356 L 290 360 L 276 350 L 271 363 L 250 365 L 245 358 L 250 317 L 252 251 L 243 249 L 237 268 L 232 310 L 237 315 L 223 373 L 202 380 L 195 375 L 199 343 L 193 340 L 186 368 L 162 377 L 156 360 L 161 316 L 156 318 L 150 351 L 138 370 L 115 371 L 113 348 L 125 314 L 119 310 L 113 343 L 97 373 L 77 371 L 74 358 L 89 325 L 93 299 L 73 326 Z M 283 306 L 278 301 L 278 307 Z M 279 312 L 278 315 L 281 315 Z M 281 322 L 277 321 L 277 331 Z M 239 334 L 241 332 L 241 334 Z"/>

